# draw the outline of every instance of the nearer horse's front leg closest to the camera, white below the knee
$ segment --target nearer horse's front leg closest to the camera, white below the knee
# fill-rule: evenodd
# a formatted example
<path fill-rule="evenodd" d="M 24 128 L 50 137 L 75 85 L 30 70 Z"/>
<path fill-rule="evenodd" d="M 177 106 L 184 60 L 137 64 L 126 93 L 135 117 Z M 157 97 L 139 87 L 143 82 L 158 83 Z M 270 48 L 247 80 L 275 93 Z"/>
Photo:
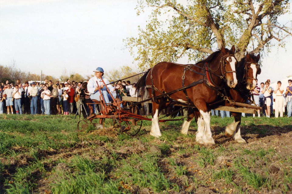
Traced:
<path fill-rule="evenodd" d="M 210 115 L 208 113 L 208 109 L 206 106 L 206 102 L 204 99 L 197 99 L 196 100 L 196 104 L 198 105 L 197 108 L 199 109 L 202 117 L 203 117 L 203 121 L 205 124 L 205 129 L 203 132 L 203 144 L 210 146 L 210 145 L 215 145 L 215 141 L 212 137 L 212 133 L 211 133 L 211 127 L 210 127 Z"/>

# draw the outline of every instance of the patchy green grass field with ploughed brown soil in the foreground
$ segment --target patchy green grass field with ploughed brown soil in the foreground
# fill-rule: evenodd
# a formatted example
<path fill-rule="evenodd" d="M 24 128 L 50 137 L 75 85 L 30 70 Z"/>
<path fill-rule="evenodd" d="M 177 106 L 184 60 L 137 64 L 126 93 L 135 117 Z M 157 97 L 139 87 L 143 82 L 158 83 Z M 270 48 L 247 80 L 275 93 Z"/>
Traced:
<path fill-rule="evenodd" d="M 292 120 L 242 119 L 237 144 L 224 136 L 233 118 L 211 117 L 215 147 L 195 141 L 182 121 L 143 122 L 135 137 L 77 133 L 73 116 L 0 115 L 0 193 L 291 193 Z"/>

